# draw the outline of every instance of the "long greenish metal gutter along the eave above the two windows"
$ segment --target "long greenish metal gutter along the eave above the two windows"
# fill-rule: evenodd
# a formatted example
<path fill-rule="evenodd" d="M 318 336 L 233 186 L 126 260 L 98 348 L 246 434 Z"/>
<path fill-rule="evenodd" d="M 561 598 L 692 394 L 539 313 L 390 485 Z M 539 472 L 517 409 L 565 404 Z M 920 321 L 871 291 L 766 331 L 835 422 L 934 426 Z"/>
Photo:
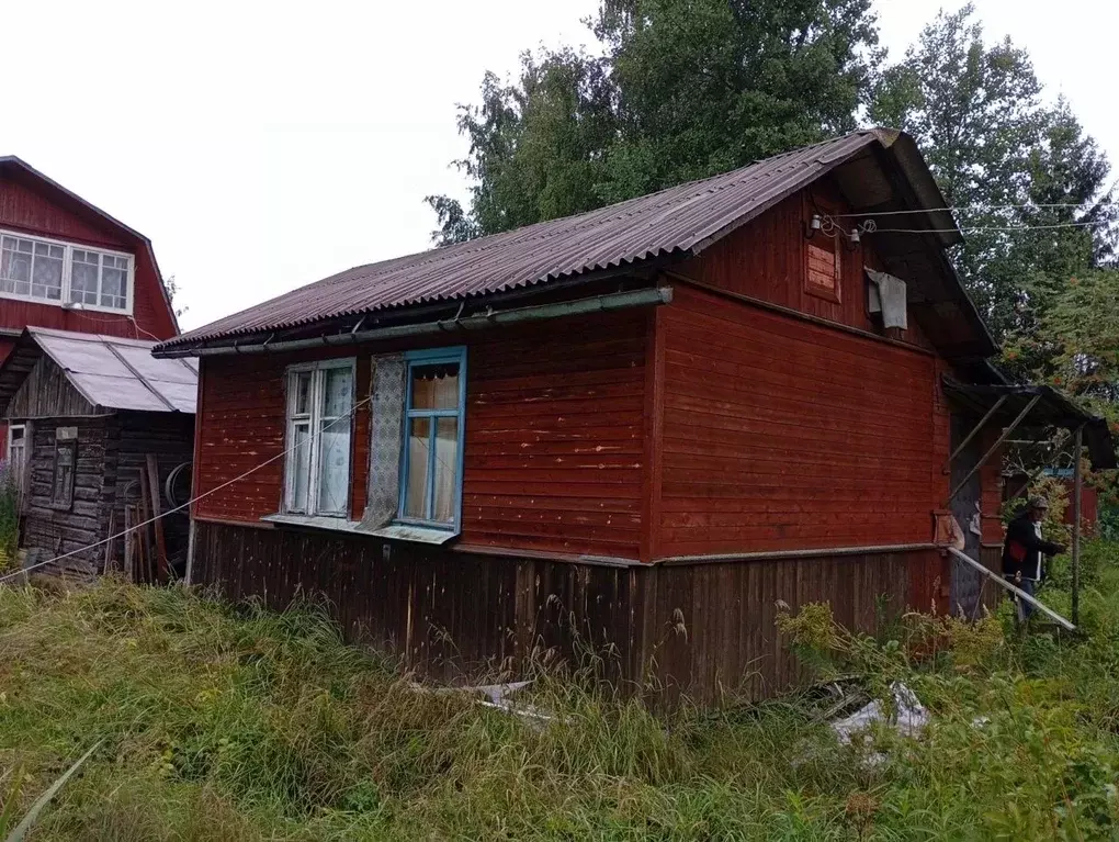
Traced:
<path fill-rule="evenodd" d="M 439 321 L 423 321 L 417 325 L 395 325 L 392 327 L 372 328 L 359 333 L 331 334 L 313 339 L 291 339 L 288 342 L 266 343 L 262 345 L 233 345 L 217 348 L 178 349 L 169 348 L 159 356 L 227 356 L 234 354 L 262 354 L 264 352 L 304 350 L 323 346 L 351 345 L 356 343 L 376 342 L 379 339 L 396 339 L 405 336 L 422 336 L 425 334 L 445 333 L 448 330 L 491 327 L 493 325 L 513 325 L 521 321 L 540 321 L 564 316 L 582 316 L 592 312 L 609 312 L 633 307 L 667 305 L 673 300 L 670 287 L 634 290 L 632 292 L 614 292 L 594 298 L 583 298 L 576 301 L 563 301 L 535 307 L 519 307 L 514 310 L 497 310 L 492 312 L 454 317 Z"/>

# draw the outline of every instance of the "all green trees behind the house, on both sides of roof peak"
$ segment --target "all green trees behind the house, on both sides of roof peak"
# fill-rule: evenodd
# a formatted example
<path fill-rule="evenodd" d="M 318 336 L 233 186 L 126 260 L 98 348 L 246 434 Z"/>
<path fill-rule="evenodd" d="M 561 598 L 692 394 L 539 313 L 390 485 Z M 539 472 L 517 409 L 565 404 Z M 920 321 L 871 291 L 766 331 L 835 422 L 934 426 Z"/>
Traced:
<path fill-rule="evenodd" d="M 427 197 L 439 244 L 745 166 L 849 131 L 865 106 L 918 140 L 957 208 L 952 258 L 1008 373 L 1119 397 L 1097 324 L 1116 280 L 1099 271 L 1116 262 L 1110 165 L 971 6 L 888 66 L 869 0 L 602 0 L 592 30 L 601 55 L 525 54 L 516 82 L 487 74 L 460 106 L 470 199 Z"/>

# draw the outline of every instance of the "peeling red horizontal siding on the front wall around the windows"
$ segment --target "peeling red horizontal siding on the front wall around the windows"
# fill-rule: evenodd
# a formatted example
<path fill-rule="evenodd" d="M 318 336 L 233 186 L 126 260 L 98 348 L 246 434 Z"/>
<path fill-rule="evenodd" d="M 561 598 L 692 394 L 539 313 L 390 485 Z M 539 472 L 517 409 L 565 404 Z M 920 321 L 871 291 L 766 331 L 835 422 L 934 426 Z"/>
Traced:
<path fill-rule="evenodd" d="M 608 314 L 468 336 L 463 542 L 638 558 L 647 319 L 646 312 Z M 198 490 L 282 453 L 286 365 L 356 356 L 360 401 L 368 395 L 369 358 L 385 347 L 207 359 Z M 354 518 L 365 506 L 368 423 L 359 409 L 351 452 Z M 198 514 L 256 522 L 278 511 L 282 480 L 276 459 L 200 500 Z"/>

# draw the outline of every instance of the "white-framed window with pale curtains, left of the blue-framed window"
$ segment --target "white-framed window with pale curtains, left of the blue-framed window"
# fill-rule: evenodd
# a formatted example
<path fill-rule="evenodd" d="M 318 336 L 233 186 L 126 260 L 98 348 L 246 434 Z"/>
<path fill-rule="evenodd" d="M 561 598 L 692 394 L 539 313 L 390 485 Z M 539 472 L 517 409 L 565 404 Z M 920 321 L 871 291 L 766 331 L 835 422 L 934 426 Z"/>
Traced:
<path fill-rule="evenodd" d="M 285 512 L 347 515 L 354 380 L 351 358 L 288 369 Z"/>

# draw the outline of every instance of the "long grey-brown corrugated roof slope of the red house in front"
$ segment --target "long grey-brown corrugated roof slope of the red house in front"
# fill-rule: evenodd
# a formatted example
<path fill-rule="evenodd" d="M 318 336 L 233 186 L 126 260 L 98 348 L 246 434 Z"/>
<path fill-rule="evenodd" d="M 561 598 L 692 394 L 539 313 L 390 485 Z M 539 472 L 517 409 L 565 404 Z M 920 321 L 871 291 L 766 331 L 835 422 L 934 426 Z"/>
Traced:
<path fill-rule="evenodd" d="M 160 344 L 175 348 L 323 319 L 461 299 L 698 252 L 873 144 L 855 132 L 598 210 L 357 266 Z"/>

